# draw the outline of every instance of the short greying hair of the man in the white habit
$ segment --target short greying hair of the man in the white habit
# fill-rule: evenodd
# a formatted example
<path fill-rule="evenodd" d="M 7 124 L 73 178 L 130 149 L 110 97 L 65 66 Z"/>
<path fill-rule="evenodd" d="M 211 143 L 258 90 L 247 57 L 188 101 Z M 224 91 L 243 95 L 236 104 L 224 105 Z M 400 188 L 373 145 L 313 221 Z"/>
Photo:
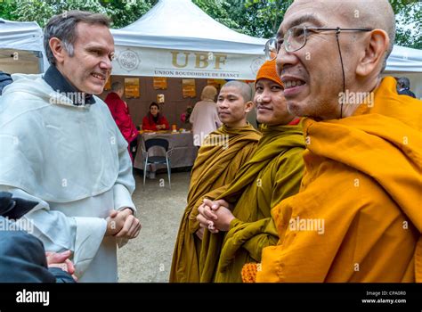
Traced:
<path fill-rule="evenodd" d="M 90 25 L 110 27 L 109 18 L 100 13 L 74 10 L 53 16 L 44 29 L 44 48 L 50 64 L 56 63 L 49 45 L 50 39 L 52 37 L 59 38 L 69 56 L 73 56 L 73 45 L 77 41 L 77 23 L 81 21 Z"/>

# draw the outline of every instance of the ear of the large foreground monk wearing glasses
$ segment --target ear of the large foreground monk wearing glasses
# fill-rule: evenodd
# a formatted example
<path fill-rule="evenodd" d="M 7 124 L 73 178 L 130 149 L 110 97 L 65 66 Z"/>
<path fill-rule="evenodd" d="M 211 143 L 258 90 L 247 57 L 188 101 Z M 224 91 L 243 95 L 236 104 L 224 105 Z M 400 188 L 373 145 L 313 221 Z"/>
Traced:
<path fill-rule="evenodd" d="M 377 70 L 377 67 L 380 70 L 389 43 L 390 39 L 384 30 L 372 30 L 363 43 L 365 52 L 357 64 L 356 74 L 358 76 L 368 76 L 371 72 Z"/>

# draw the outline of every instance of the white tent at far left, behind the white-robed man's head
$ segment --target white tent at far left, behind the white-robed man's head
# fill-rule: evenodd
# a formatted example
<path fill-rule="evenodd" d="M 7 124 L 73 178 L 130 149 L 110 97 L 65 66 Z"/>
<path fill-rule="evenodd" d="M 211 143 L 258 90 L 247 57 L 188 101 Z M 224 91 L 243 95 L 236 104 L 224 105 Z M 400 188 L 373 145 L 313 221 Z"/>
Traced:
<path fill-rule="evenodd" d="M 37 22 L 0 19 L 0 70 L 35 74 L 45 71 L 45 65 L 43 30 Z"/>

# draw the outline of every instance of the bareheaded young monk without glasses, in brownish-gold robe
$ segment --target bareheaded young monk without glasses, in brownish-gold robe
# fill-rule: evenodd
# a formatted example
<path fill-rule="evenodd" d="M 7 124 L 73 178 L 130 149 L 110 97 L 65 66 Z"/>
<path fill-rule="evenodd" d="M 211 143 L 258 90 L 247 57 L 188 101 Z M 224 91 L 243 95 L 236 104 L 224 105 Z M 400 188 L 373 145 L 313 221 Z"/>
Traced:
<path fill-rule="evenodd" d="M 240 166 L 256 149 L 261 134 L 247 122 L 253 109 L 252 90 L 244 82 L 230 81 L 218 94 L 217 112 L 223 122 L 207 136 L 191 172 L 188 205 L 174 248 L 170 282 L 199 282 L 199 250 L 203 229 L 191 209 L 207 192 L 231 182 Z"/>

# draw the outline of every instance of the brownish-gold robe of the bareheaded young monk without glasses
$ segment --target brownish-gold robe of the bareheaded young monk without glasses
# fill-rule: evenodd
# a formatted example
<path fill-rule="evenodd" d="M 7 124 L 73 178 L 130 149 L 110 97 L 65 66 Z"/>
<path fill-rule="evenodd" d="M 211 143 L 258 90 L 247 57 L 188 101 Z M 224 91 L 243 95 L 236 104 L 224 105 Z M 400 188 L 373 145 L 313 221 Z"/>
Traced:
<path fill-rule="evenodd" d="M 188 205 L 174 247 L 170 282 L 199 282 L 199 222 L 191 210 L 207 192 L 226 185 L 255 152 L 261 134 L 246 127 L 220 127 L 207 136 L 191 172 Z"/>

